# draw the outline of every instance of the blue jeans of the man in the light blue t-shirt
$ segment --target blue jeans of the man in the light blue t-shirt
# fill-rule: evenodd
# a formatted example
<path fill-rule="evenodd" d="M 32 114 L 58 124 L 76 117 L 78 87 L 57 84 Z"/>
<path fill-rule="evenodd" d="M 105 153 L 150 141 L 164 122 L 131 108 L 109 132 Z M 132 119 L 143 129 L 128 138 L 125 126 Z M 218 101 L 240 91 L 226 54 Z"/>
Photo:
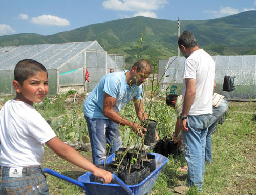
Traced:
<path fill-rule="evenodd" d="M 110 155 L 117 151 L 121 146 L 121 137 L 118 124 L 109 119 L 86 117 L 86 123 L 89 131 L 89 137 L 92 147 L 93 164 L 100 164 L 106 159 L 106 144 L 111 146 Z M 116 134 L 116 135 L 115 135 Z"/>

